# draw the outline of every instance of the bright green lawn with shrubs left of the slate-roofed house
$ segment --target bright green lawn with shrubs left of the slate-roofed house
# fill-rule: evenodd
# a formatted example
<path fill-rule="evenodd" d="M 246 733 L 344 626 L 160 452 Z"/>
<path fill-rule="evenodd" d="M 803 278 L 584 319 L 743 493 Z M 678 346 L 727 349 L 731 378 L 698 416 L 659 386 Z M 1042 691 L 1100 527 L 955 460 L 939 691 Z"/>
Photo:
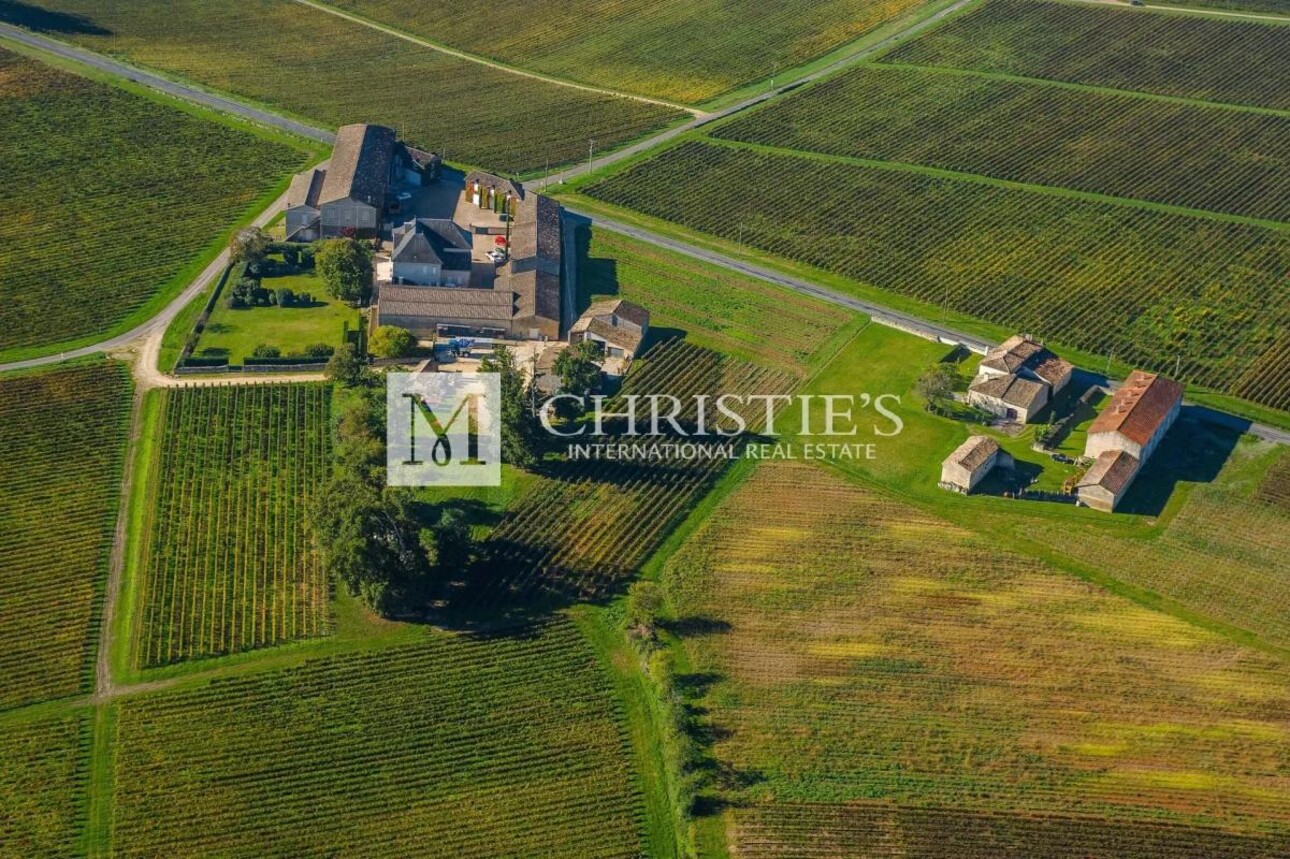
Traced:
<path fill-rule="evenodd" d="M 359 311 L 329 298 L 317 275 L 266 277 L 263 285 L 266 289 L 285 286 L 297 295 L 310 293 L 313 303 L 308 307 L 233 310 L 221 297 L 194 353 L 201 357 L 227 355 L 230 364 L 241 364 L 262 343 L 276 346 L 283 355 L 302 352 L 313 343 L 339 346 L 344 322 L 348 321 L 351 328 L 359 324 Z"/>

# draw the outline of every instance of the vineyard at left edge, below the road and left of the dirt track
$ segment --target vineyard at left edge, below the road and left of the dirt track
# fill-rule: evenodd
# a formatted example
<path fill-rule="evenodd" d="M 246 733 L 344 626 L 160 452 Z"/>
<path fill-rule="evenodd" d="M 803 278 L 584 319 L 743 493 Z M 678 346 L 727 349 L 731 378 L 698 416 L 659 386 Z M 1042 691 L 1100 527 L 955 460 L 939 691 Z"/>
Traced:
<path fill-rule="evenodd" d="M 90 685 L 129 409 L 120 364 L 0 377 L 0 709 Z"/>

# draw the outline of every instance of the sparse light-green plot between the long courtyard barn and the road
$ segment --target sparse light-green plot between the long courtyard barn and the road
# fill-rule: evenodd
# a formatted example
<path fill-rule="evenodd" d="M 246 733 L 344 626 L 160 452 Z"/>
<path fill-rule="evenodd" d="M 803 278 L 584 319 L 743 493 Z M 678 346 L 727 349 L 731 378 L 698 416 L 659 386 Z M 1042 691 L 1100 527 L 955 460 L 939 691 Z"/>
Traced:
<path fill-rule="evenodd" d="M 697 346 L 797 374 L 854 313 L 605 230 L 579 236 L 578 288 L 590 303 L 626 298 L 650 326 Z M 769 333 L 773 337 L 768 337 Z"/>

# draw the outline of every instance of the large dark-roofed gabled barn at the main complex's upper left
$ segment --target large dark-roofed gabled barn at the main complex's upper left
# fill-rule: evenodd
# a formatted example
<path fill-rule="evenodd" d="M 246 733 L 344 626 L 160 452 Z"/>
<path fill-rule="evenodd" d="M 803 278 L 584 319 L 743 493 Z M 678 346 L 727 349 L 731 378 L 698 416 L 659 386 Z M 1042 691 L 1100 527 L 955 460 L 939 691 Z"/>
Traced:
<path fill-rule="evenodd" d="M 395 139 L 384 125 L 344 125 L 325 168 L 295 177 L 286 192 L 286 240 L 375 236 L 391 205 L 390 186 L 435 178 L 439 157 Z"/>

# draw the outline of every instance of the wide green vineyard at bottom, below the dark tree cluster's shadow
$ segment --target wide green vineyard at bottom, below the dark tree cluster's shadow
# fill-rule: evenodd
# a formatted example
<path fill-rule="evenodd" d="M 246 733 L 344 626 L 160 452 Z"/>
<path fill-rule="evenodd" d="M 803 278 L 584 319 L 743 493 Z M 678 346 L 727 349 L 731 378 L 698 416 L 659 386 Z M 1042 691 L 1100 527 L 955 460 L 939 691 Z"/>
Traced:
<path fill-rule="evenodd" d="M 129 699 L 114 855 L 641 855 L 608 680 L 565 620 Z"/>

